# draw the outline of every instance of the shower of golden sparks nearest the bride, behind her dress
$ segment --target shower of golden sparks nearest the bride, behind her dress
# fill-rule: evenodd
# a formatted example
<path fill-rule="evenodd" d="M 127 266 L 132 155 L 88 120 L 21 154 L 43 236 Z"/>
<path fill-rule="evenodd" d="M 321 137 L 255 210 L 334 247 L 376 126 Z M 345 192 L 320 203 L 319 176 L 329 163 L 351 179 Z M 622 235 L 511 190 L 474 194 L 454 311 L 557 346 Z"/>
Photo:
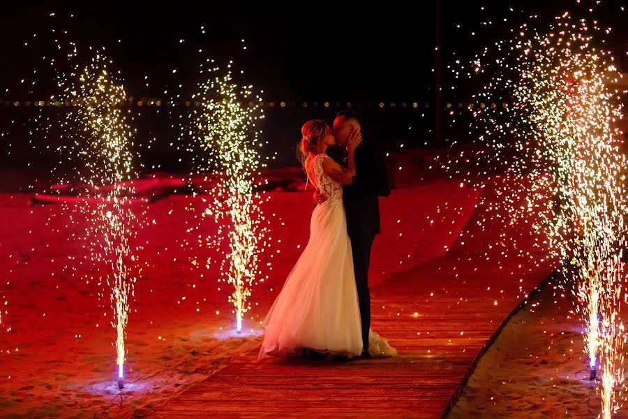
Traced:
<path fill-rule="evenodd" d="M 251 309 L 251 289 L 264 281 L 258 265 L 260 253 L 269 247 L 269 229 L 262 212 L 266 199 L 255 192 L 260 184 L 256 179 L 260 166 L 257 148 L 262 143 L 257 124 L 264 117 L 262 98 L 253 96 L 252 86 L 234 82 L 231 65 L 223 75 L 219 75 L 219 67 L 204 70 L 210 77 L 193 95 L 200 107 L 190 113 L 190 126 L 184 129 L 193 140 L 190 151 L 195 156 L 195 170 L 200 174 L 214 172 L 211 177 L 215 184 L 208 191 L 211 198 L 202 198 L 205 207 L 200 221 L 211 216 L 218 224 L 218 233 L 198 235 L 197 243 L 221 255 L 218 283 L 233 286 L 229 302 L 234 305 L 240 331 L 244 314 Z M 209 177 L 204 175 L 204 180 Z M 200 231 L 200 223 L 188 229 L 188 233 L 195 231 Z M 228 249 L 223 246 L 225 241 Z M 211 263 L 208 258 L 206 267 Z M 197 265 L 197 260 L 193 264 Z"/>

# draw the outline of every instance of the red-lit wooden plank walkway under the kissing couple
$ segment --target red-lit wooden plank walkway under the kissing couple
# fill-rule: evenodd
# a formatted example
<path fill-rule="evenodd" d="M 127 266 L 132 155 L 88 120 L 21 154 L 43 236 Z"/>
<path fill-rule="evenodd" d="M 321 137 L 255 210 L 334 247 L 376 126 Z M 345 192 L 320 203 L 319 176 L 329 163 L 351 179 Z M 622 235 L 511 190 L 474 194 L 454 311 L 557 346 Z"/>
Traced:
<path fill-rule="evenodd" d="M 151 418 L 439 418 L 487 339 L 550 273 L 515 251 L 486 253 L 502 232 L 477 230 L 475 217 L 466 243 L 372 288 L 373 330 L 400 357 L 258 363 L 250 353 Z"/>

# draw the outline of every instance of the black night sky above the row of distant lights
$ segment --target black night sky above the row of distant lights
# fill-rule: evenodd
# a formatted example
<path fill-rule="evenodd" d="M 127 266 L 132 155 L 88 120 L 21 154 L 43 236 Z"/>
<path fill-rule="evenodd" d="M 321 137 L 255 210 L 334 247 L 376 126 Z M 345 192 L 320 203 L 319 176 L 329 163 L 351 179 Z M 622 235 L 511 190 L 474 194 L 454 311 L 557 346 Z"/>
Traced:
<path fill-rule="evenodd" d="M 387 1 L 370 7 L 325 1 L 157 3 L 6 2 L 0 16 L 0 49 L 7 59 L 0 68 L 0 80 L 11 84 L 27 75 L 37 54 L 32 43 L 26 48 L 23 42 L 36 33 L 43 43 L 50 29 L 56 28 L 68 30 L 68 38 L 79 45 L 107 47 L 130 92 L 138 96 L 158 95 L 173 84 L 174 68 L 193 76 L 200 62 L 198 48 L 204 50 L 202 57 L 235 59 L 272 100 L 424 101 L 433 96 L 435 1 L 412 6 Z M 578 5 L 576 0 L 440 3 L 446 83 L 447 65 L 454 54 L 464 57 L 508 37 L 509 30 L 532 13 L 551 19 L 567 8 L 576 15 L 585 9 L 585 2 Z M 625 2 L 603 3 L 599 15 L 615 28 L 616 43 L 622 43 L 620 38 L 628 43 L 626 15 L 617 13 Z M 50 17 L 50 13 L 56 15 Z M 70 13 L 73 18 L 68 17 Z M 185 42 L 179 43 L 181 39 Z M 241 48 L 242 39 L 246 51 Z M 43 45 L 38 48 L 45 50 Z M 143 82 L 146 75 L 149 87 Z"/>

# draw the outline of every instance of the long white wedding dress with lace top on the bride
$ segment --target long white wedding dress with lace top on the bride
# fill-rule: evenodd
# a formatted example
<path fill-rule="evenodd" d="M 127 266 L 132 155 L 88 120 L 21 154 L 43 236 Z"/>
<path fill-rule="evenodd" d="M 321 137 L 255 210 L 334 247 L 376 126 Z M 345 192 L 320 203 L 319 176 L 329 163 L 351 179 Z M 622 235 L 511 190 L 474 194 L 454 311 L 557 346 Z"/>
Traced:
<path fill-rule="evenodd" d="M 266 336 L 258 360 L 289 356 L 309 348 L 320 353 L 361 355 L 362 337 L 351 242 L 343 188 L 322 169 L 327 154 L 313 158 L 315 185 L 327 200 L 310 221 L 310 239 L 292 268 L 263 326 Z M 396 350 L 371 330 L 369 353 L 393 356 Z"/>

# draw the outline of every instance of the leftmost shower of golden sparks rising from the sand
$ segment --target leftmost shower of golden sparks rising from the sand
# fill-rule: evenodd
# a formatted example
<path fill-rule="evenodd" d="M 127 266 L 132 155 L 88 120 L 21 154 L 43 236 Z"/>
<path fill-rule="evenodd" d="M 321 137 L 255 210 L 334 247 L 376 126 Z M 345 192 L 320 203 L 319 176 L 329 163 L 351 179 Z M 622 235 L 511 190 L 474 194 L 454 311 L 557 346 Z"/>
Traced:
<path fill-rule="evenodd" d="M 76 48 L 69 58 L 77 60 Z M 54 61 L 51 64 L 54 66 Z M 127 96 L 121 81 L 110 71 L 110 64 L 112 61 L 98 52 L 88 66 L 75 64 L 68 77 L 59 75 L 58 87 L 63 93 L 51 100 L 68 107 L 59 128 L 63 131 L 61 137 L 70 138 L 72 145 L 59 147 L 58 152 L 64 160 L 60 166 L 71 166 L 67 171 L 71 175 L 61 175 L 61 184 L 72 185 L 80 198 L 76 206 L 64 204 L 63 209 L 70 212 L 73 223 L 82 226 L 85 219 L 85 235 L 79 237 L 86 241 L 85 258 L 91 265 L 103 267 L 97 277 L 102 290 L 98 295 L 104 297 L 106 284 L 113 312 L 111 324 L 116 330 L 118 374 L 122 378 L 129 300 L 141 272 L 129 240 L 141 223 L 130 208 L 132 179 L 137 173 L 133 170 L 133 128 L 127 120 L 128 111 L 122 107 Z M 48 129 L 52 128 L 51 123 Z"/>

